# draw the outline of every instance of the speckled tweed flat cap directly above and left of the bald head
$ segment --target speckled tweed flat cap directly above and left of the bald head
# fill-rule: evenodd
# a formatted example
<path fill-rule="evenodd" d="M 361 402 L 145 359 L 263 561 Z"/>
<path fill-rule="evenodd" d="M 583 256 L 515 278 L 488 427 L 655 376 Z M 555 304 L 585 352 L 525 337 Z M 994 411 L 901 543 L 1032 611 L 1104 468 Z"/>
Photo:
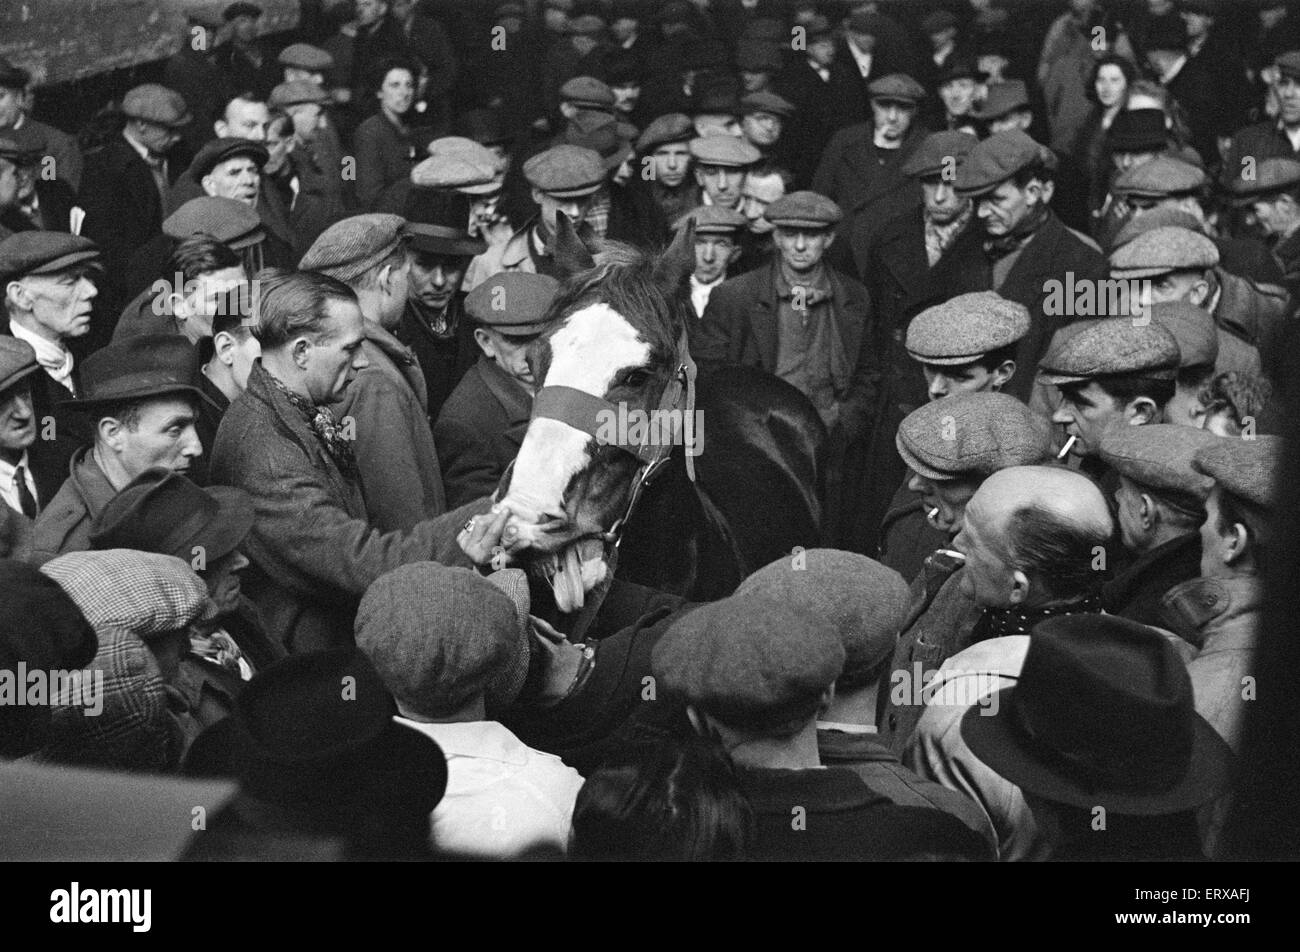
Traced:
<path fill-rule="evenodd" d="M 957 393 L 907 414 L 894 445 L 918 476 L 971 479 L 1046 462 L 1052 428 L 1046 417 L 1010 394 Z"/>

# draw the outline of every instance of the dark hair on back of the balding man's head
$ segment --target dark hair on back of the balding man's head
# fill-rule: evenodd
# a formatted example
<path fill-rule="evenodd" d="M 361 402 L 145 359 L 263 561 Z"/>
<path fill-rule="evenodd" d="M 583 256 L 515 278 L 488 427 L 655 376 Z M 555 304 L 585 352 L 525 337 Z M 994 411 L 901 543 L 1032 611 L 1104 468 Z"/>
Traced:
<path fill-rule="evenodd" d="M 1092 594 L 1102 576 L 1092 567 L 1096 549 L 1105 549 L 1112 531 L 1109 524 L 1100 532 L 1041 506 L 1022 506 L 1006 524 L 1008 566 L 1036 579 L 1053 598 Z"/>

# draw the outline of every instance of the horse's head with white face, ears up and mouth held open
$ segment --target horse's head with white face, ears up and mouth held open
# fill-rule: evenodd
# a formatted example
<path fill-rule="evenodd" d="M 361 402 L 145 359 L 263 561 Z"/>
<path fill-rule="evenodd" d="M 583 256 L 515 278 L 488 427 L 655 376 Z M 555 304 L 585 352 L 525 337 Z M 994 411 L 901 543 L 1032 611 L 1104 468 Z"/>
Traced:
<path fill-rule="evenodd" d="M 533 417 L 498 496 L 511 512 L 504 548 L 551 580 L 562 611 L 582 607 L 608 575 L 607 546 L 645 477 L 689 440 L 693 246 L 692 226 L 662 255 L 611 245 L 595 260 L 556 216 L 567 280 L 528 355 Z"/>

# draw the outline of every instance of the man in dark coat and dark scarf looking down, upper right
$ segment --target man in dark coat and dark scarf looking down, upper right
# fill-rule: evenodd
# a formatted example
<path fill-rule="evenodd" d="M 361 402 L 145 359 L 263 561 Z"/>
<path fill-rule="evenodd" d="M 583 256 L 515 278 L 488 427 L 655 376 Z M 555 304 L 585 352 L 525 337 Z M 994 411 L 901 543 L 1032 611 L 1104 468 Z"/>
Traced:
<path fill-rule="evenodd" d="M 975 204 L 983 245 L 961 242 L 933 269 L 936 298 L 997 291 L 1030 310 L 1030 333 L 1015 354 L 1018 373 L 1008 393 L 1027 401 L 1034 372 L 1052 336 L 1071 316 L 1048 313 L 1044 287 L 1072 273 L 1075 282 L 1106 277 L 1096 246 L 1067 229 L 1049 207 L 1056 156 L 1019 130 L 975 146 L 957 169 L 959 195 Z"/>

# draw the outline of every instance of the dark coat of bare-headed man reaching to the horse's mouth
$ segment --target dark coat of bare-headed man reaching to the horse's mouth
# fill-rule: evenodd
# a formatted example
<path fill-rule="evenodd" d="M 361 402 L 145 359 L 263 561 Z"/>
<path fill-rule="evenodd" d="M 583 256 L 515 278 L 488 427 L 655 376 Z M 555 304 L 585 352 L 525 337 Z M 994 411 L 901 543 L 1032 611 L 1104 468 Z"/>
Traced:
<path fill-rule="evenodd" d="M 365 589 L 400 564 L 468 564 L 456 532 L 486 510 L 480 502 L 410 532 L 380 532 L 367 519 L 360 486 L 339 472 L 260 360 L 221 420 L 211 479 L 254 498 L 243 588 L 266 633 L 291 652 L 351 644 Z"/>

